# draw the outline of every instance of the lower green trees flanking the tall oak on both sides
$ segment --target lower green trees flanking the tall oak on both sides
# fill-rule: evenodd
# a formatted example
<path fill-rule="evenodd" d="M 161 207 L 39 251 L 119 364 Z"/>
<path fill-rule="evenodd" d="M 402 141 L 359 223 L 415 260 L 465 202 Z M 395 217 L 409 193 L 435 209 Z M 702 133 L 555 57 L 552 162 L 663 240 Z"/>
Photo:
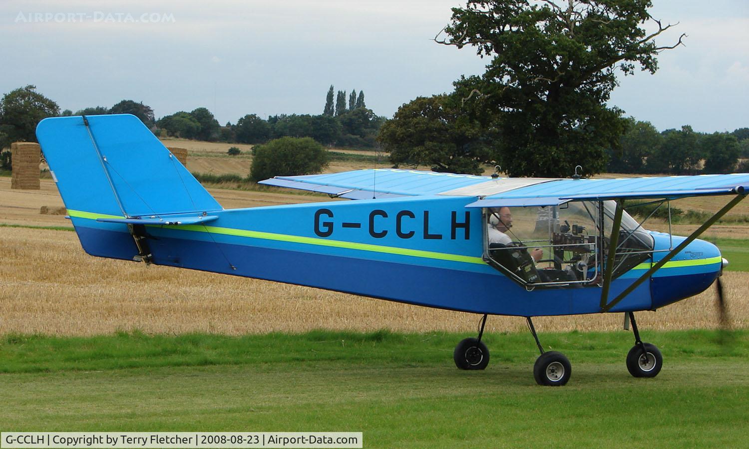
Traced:
<path fill-rule="evenodd" d="M 481 174 L 485 164 L 515 171 L 524 160 L 497 154 L 501 137 L 464 114 L 460 99 L 443 94 L 419 97 L 404 104 L 380 129 L 379 139 L 396 166 L 428 167 L 433 171 Z M 698 174 L 749 171 L 749 128 L 733 132 L 694 132 L 691 126 L 658 131 L 651 123 L 624 119 L 623 134 L 604 147 L 604 171 L 627 174 Z M 570 160 L 586 167 L 591 159 L 574 153 Z M 495 159 L 496 158 L 496 159 Z M 497 162 L 500 159 L 502 162 Z M 542 161 L 536 162 L 541 164 Z M 590 167 L 587 167 L 588 169 Z M 549 173 L 549 171 L 545 171 Z M 550 176 L 574 173 L 554 171 Z"/>

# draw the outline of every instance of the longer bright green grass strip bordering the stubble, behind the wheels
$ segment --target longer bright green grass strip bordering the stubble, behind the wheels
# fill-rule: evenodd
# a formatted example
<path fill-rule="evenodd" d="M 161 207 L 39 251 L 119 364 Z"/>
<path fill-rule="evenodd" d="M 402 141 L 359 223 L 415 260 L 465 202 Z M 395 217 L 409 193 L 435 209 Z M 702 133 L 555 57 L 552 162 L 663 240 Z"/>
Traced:
<path fill-rule="evenodd" d="M 285 364 L 345 361 L 347 364 L 435 366 L 452 361 L 461 338 L 455 332 L 403 333 L 314 330 L 301 334 L 148 335 L 117 332 L 91 337 L 8 334 L 0 340 L 0 373 L 120 370 L 145 367 Z M 697 358 L 746 358 L 749 329 L 651 331 L 643 339 L 671 354 Z M 537 354 L 527 332 L 491 332 L 483 337 L 499 364 L 533 364 Z M 552 332 L 541 334 L 546 350 L 562 350 L 584 363 L 617 363 L 632 346 L 628 332 Z M 452 363 L 452 362 L 451 362 Z M 749 360 L 747 361 L 749 364 Z M 749 385 L 748 385 L 749 386 Z"/>

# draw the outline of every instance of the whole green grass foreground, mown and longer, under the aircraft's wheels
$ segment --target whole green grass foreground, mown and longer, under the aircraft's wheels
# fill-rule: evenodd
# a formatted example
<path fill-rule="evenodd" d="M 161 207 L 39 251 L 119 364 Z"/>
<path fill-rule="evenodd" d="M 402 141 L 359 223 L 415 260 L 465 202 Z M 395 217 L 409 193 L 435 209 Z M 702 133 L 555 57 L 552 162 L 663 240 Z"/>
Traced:
<path fill-rule="evenodd" d="M 459 371 L 461 334 L 243 337 L 7 335 L 2 430 L 362 431 L 365 447 L 739 447 L 749 332 L 652 332 L 656 379 L 624 366 L 631 334 L 542 334 L 572 378 L 542 388 L 527 333 L 488 334 L 487 370 Z"/>

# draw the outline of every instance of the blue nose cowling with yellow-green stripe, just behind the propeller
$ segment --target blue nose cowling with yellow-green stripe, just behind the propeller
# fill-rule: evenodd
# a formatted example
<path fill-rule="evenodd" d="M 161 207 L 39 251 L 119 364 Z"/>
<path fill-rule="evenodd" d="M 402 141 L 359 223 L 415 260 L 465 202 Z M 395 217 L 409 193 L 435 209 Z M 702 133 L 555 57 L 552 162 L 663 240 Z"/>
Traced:
<path fill-rule="evenodd" d="M 668 234 L 653 235 L 655 250 L 653 261 L 661 260 L 668 248 L 683 242 L 685 237 L 673 236 L 670 242 Z M 695 239 L 679 254 L 676 254 L 661 269 L 652 275 L 650 288 L 652 308 L 660 308 L 672 302 L 697 295 L 706 290 L 721 275 L 728 260 L 721 256 L 717 246 L 705 240 Z"/>

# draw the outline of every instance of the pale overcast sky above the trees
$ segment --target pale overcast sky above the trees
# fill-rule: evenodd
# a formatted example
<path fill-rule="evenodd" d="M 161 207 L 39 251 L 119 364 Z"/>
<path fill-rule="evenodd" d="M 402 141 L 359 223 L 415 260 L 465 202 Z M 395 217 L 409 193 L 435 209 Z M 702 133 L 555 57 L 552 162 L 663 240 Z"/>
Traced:
<path fill-rule="evenodd" d="M 749 1 L 654 0 L 679 25 L 657 43 L 655 75 L 620 77 L 611 104 L 658 129 L 749 126 Z M 431 39 L 450 0 L 0 0 L 0 93 L 33 84 L 61 109 L 142 101 L 157 117 L 207 107 L 321 114 L 330 85 L 363 90 L 392 117 L 419 96 L 452 91 L 487 61 Z M 132 20 L 132 21 L 131 21 Z"/>

